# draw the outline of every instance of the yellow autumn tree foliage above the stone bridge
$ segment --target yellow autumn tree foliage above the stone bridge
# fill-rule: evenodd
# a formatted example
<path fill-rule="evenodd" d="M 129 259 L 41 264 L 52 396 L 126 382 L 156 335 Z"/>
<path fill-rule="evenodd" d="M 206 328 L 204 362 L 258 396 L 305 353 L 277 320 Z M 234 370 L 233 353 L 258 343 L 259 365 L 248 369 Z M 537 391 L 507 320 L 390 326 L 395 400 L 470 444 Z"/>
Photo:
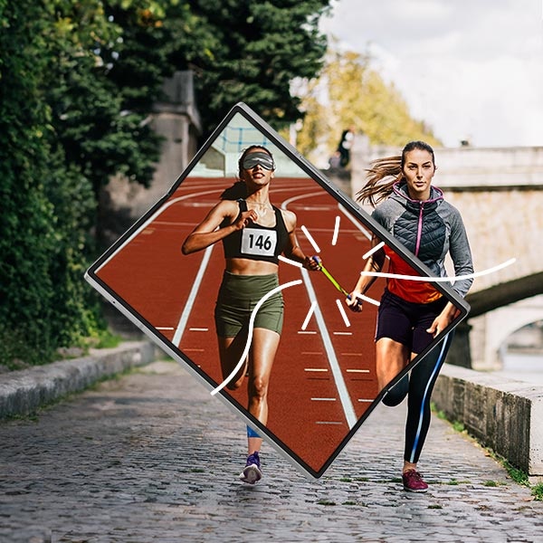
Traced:
<path fill-rule="evenodd" d="M 394 84 L 387 84 L 371 67 L 371 58 L 357 52 L 330 50 L 317 80 L 305 88 L 307 110 L 299 134 L 299 148 L 311 155 L 316 148 L 330 154 L 343 129 L 354 127 L 373 145 L 403 147 L 423 139 L 439 145 L 432 129 L 414 119 Z M 320 147 L 319 147 L 320 144 Z"/>

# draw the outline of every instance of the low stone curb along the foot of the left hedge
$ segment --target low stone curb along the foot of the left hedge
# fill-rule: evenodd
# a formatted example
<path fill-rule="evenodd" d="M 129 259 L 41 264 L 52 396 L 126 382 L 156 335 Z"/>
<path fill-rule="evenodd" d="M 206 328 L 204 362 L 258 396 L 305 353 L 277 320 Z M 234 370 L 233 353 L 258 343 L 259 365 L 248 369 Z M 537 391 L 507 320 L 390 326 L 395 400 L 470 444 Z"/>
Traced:
<path fill-rule="evenodd" d="M 5 373 L 0 375 L 0 419 L 32 414 L 63 395 L 154 359 L 151 342 L 130 341 L 117 348 L 91 350 L 88 357 Z"/>

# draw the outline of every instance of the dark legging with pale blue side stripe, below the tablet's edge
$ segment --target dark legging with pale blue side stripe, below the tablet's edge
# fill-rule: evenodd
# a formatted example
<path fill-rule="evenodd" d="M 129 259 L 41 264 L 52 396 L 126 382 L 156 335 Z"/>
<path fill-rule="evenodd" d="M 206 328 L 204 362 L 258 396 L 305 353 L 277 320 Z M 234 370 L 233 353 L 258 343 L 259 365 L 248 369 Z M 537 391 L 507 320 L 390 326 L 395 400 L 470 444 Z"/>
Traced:
<path fill-rule="evenodd" d="M 407 395 L 405 424 L 405 462 L 418 462 L 430 427 L 430 398 L 433 386 L 451 347 L 453 332 L 447 334 L 409 374 L 404 376 L 383 398 L 383 404 L 399 405 Z"/>

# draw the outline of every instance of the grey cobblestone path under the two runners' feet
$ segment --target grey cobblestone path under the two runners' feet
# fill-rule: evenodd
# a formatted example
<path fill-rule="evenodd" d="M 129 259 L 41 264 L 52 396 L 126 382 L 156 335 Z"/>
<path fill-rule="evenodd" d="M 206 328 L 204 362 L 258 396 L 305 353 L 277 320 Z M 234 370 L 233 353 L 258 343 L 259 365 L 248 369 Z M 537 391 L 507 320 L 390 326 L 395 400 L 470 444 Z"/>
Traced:
<path fill-rule="evenodd" d="M 243 485 L 244 424 L 155 362 L 0 424 L 0 540 L 543 540 L 543 503 L 440 419 L 419 463 L 429 491 L 403 491 L 404 424 L 405 406 L 379 406 L 319 481 L 264 444 L 264 478 Z"/>

